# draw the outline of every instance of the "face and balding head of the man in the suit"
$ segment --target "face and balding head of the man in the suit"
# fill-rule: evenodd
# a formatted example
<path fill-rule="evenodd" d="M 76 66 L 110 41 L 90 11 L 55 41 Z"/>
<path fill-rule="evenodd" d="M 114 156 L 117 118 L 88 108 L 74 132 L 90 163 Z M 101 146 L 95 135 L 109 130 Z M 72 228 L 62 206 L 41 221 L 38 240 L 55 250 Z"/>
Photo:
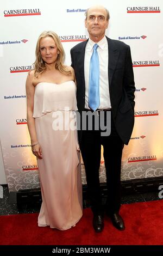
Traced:
<path fill-rule="evenodd" d="M 100 41 L 108 28 L 109 20 L 106 20 L 106 10 L 104 8 L 90 8 L 85 19 L 85 27 L 89 33 L 90 39 Z"/>

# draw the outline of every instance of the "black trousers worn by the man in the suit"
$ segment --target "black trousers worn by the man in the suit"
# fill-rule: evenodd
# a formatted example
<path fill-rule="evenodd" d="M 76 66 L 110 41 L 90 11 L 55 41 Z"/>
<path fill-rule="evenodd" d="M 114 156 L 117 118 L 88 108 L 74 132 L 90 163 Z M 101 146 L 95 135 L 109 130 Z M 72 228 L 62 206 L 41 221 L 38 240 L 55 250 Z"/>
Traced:
<path fill-rule="evenodd" d="M 82 131 L 80 150 L 85 165 L 87 190 L 91 200 L 93 214 L 103 214 L 104 210 L 99 183 L 101 145 L 103 145 L 104 149 L 106 184 L 108 188 L 105 210 L 108 214 L 112 214 L 118 212 L 121 206 L 121 159 L 124 146 L 116 132 L 112 115 L 111 133 L 109 136 L 102 136 L 100 129 Z"/>

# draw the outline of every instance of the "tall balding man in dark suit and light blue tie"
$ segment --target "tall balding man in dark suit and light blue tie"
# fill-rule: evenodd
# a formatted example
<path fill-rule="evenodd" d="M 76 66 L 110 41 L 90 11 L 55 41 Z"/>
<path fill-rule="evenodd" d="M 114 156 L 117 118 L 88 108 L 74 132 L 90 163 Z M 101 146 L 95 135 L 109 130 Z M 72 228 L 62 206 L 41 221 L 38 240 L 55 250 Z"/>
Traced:
<path fill-rule="evenodd" d="M 123 146 L 128 144 L 133 131 L 135 105 L 130 47 L 124 42 L 111 40 L 105 36 L 109 24 L 109 11 L 104 7 L 91 7 L 85 15 L 89 39 L 71 49 L 72 66 L 77 81 L 78 110 L 81 115 L 83 111 L 95 111 L 93 113 L 99 116 L 105 113 L 105 122 L 108 122 L 106 113 L 111 114 L 109 136 L 102 136 L 101 129 L 78 132 L 93 211 L 93 228 L 96 232 L 104 228 L 99 184 L 103 145 L 108 188 L 105 210 L 114 226 L 124 230 L 124 221 L 119 214 L 121 158 Z"/>

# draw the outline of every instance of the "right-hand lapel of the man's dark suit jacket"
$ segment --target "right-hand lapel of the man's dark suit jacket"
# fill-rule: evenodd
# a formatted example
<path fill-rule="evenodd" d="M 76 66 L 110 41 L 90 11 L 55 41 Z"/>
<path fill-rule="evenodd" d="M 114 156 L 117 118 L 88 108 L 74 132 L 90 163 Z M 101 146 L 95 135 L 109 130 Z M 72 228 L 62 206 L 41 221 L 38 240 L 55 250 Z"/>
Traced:
<path fill-rule="evenodd" d="M 109 66 L 108 66 L 108 76 L 109 76 L 109 87 L 111 86 L 112 76 L 114 74 L 114 70 L 116 68 L 116 64 L 118 61 L 118 56 L 120 52 L 118 51 L 115 42 L 106 36 L 108 41 L 108 49 L 109 49 Z"/>

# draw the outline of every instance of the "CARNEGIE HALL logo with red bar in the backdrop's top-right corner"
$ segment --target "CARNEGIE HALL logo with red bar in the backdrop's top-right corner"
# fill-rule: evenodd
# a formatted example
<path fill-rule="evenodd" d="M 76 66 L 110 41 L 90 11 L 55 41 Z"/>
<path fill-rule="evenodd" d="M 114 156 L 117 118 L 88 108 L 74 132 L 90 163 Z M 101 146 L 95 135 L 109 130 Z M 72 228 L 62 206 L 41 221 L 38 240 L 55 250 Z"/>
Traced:
<path fill-rule="evenodd" d="M 159 6 L 127 7 L 127 13 L 161 13 Z"/>

